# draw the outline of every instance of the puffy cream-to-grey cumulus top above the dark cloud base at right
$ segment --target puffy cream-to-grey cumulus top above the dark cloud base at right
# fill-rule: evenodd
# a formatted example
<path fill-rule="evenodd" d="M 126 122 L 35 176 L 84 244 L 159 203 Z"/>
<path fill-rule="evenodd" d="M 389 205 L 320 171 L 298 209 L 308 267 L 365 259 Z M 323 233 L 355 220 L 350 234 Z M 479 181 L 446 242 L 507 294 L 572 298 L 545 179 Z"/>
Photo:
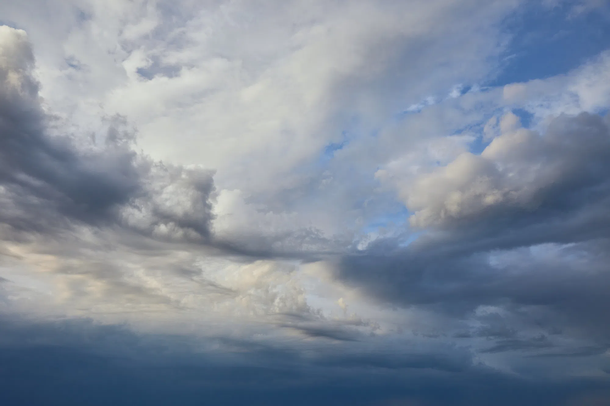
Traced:
<path fill-rule="evenodd" d="M 517 126 L 518 118 L 508 113 L 500 121 L 502 134 L 480 155 L 465 152 L 401 190 L 414 212 L 411 224 L 443 226 L 605 204 L 607 119 L 587 113 L 560 116 L 544 135 Z"/>

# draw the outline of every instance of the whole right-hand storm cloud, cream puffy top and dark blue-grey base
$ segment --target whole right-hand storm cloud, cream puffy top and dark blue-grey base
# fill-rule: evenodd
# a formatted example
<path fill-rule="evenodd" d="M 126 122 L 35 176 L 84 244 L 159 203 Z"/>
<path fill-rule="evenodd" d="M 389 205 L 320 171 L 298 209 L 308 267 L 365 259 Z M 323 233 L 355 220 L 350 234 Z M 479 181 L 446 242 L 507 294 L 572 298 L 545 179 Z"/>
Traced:
<path fill-rule="evenodd" d="M 544 134 L 511 130 L 480 156 L 415 179 L 404 196 L 425 232 L 406 248 L 386 239 L 346 255 L 337 276 L 381 301 L 459 318 L 500 306 L 512 320 L 481 318 L 484 329 L 464 333 L 497 341 L 487 351 L 554 346 L 517 337 L 526 325 L 608 347 L 609 169 L 608 116 L 562 115 Z"/>

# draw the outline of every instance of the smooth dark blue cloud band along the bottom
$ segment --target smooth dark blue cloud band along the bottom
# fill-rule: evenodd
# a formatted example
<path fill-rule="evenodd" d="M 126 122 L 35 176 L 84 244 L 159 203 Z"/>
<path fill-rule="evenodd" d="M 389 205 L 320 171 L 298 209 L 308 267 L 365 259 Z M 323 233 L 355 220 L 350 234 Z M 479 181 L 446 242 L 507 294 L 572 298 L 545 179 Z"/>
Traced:
<path fill-rule="evenodd" d="M 4 317 L 0 326 L 4 405 L 580 406 L 583 399 L 610 399 L 607 382 L 531 382 L 485 368 L 439 372 L 425 369 L 435 362 L 425 355 L 389 363 L 389 355 L 374 352 L 306 361 L 292 351 L 242 342 L 251 351 L 227 362 L 193 354 L 190 344 L 168 337 L 87 321 Z"/>

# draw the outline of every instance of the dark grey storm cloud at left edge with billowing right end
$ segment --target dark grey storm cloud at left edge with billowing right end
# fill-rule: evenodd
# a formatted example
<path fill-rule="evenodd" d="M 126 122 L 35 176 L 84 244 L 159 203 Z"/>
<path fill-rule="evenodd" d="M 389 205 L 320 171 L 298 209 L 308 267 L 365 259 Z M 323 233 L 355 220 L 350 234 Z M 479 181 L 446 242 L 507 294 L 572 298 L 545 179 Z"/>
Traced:
<path fill-rule="evenodd" d="M 27 36 L 0 29 L 2 223 L 17 234 L 51 232 L 77 221 L 156 238 L 209 240 L 213 172 L 138 154 L 120 116 L 107 120 L 106 134 L 90 145 L 52 134 L 56 118 L 38 96 Z"/>

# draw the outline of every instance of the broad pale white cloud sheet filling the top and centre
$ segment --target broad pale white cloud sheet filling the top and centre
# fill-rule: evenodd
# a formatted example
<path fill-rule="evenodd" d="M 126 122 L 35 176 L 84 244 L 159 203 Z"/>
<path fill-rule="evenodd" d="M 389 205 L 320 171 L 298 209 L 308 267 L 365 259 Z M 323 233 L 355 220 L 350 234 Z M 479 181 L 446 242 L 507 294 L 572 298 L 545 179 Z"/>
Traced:
<path fill-rule="evenodd" d="M 213 227 L 234 249 L 268 255 L 351 245 L 351 224 L 383 208 L 354 207 L 375 182 L 318 165 L 326 146 L 346 127 L 350 139 L 367 136 L 408 105 L 475 80 L 500 52 L 495 23 L 518 4 L 75 1 L 3 12 L 33 38 L 41 94 L 68 126 L 88 130 L 119 113 L 156 160 L 215 168 L 219 198 L 239 191 L 245 202 L 226 205 Z M 58 26 L 39 13 L 57 14 Z M 229 216 L 247 218 L 243 229 L 226 227 Z"/>

